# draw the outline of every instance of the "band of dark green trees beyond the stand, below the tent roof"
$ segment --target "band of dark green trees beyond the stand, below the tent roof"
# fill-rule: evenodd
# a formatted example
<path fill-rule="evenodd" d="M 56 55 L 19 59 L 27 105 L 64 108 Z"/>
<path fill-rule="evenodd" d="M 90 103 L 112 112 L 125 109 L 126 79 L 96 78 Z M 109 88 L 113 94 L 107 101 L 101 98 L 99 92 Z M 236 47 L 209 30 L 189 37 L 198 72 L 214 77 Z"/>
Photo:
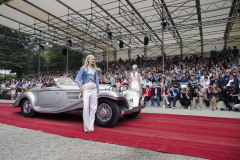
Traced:
<path fill-rule="evenodd" d="M 62 54 L 62 48 L 0 26 L 0 69 L 11 70 L 18 78 L 36 74 L 39 54 L 42 73 L 66 69 L 67 56 Z M 69 68 L 81 66 L 81 61 L 82 54 L 69 50 Z"/>

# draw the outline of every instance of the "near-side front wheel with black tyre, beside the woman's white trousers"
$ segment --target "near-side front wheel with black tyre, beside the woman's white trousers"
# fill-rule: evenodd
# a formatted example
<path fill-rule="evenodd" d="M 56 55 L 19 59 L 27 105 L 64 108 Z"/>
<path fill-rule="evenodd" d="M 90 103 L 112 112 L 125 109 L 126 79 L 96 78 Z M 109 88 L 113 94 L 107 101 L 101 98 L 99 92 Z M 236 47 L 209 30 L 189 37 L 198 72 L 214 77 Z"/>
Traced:
<path fill-rule="evenodd" d="M 108 99 L 100 99 L 96 111 L 96 123 L 100 127 L 113 127 L 119 119 L 118 105 Z"/>

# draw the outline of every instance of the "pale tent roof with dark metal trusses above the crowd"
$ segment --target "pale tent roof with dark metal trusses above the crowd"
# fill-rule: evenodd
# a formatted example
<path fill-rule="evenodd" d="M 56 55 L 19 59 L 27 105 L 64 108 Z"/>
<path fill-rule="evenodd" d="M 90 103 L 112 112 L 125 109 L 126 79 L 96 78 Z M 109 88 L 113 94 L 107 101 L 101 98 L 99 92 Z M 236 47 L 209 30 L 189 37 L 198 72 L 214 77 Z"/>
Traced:
<path fill-rule="evenodd" d="M 0 6 L 0 24 L 61 46 L 70 39 L 73 49 L 91 53 L 117 51 L 119 40 L 141 48 L 145 36 L 160 50 L 164 19 L 166 54 L 201 53 L 240 36 L 232 27 L 238 10 L 239 0 L 12 0 Z"/>

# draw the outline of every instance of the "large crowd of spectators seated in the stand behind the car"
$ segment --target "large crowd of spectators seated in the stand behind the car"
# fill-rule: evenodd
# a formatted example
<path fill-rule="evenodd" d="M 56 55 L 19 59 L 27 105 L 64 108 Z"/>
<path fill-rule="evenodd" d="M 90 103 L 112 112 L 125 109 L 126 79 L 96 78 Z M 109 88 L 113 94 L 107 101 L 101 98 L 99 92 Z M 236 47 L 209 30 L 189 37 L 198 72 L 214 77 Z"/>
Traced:
<path fill-rule="evenodd" d="M 136 60 L 109 62 L 107 70 L 106 62 L 97 64 L 99 69 L 100 84 L 112 84 L 121 92 L 128 89 L 129 75 L 134 64 L 138 65 L 138 72 L 141 74 L 142 93 L 145 101 L 151 100 L 160 107 L 160 101 L 164 101 L 163 108 L 176 107 L 179 100 L 182 107 L 189 109 L 199 107 L 202 109 L 203 103 L 207 106 L 211 104 L 212 110 L 218 109 L 217 102 L 224 101 L 226 110 L 232 110 L 230 102 L 239 103 L 240 84 L 240 56 L 237 47 L 233 50 L 224 49 L 222 53 L 211 54 L 202 58 L 198 55 L 166 57 L 165 70 L 163 72 L 161 57 L 148 60 L 144 56 L 138 56 Z M 79 67 L 69 71 L 67 76 L 75 79 Z M 11 98 L 25 90 L 35 86 L 47 85 L 50 79 L 66 76 L 63 72 L 47 73 L 40 78 L 17 79 L 2 82 L 0 91 L 9 89 Z M 171 106 L 171 102 L 173 106 Z"/>

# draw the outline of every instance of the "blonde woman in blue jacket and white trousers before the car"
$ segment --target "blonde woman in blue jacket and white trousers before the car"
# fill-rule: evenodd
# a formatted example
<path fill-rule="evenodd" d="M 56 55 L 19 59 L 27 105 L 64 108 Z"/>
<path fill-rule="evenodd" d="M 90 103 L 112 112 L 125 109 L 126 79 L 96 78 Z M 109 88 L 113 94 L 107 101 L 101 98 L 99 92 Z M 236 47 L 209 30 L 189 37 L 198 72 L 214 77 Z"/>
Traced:
<path fill-rule="evenodd" d="M 80 93 L 83 93 L 84 131 L 93 132 L 99 98 L 98 72 L 93 55 L 86 57 L 84 66 L 78 72 L 76 82 L 80 87 Z"/>

